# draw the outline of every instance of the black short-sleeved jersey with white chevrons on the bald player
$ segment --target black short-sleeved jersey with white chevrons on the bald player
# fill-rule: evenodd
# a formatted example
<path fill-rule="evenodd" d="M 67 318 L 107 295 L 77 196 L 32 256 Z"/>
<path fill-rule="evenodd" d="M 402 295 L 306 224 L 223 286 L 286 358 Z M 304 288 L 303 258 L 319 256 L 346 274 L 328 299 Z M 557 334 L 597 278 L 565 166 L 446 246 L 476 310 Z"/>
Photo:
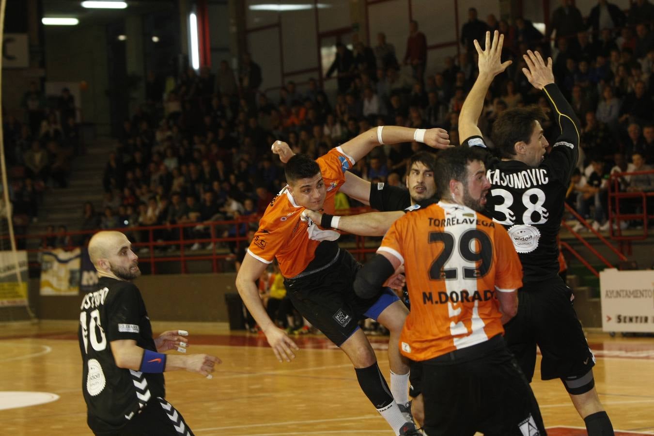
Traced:
<path fill-rule="evenodd" d="M 101 277 L 97 291 L 82 299 L 78 339 L 84 365 L 82 392 L 94 431 L 116 431 L 150 398 L 165 396 L 163 374 L 119 368 L 111 352 L 111 341 L 121 339 L 156 351 L 145 303 L 134 284 Z"/>

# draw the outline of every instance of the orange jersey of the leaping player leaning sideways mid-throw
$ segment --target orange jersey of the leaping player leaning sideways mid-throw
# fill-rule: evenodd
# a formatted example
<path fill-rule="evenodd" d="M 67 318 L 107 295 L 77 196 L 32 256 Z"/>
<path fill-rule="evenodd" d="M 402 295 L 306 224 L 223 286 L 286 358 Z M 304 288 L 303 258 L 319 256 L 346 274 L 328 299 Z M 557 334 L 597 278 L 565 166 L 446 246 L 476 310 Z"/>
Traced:
<path fill-rule="evenodd" d="M 353 167 L 354 159 L 341 147 L 332 148 L 318 158 L 322 180 L 327 189 L 324 212 L 334 214 L 334 196 L 345 183 L 345 171 Z M 317 224 L 301 220 L 304 207 L 297 205 L 293 195 L 284 187 L 266 208 L 254 234 L 248 253 L 256 260 L 271 263 L 277 257 L 284 277 L 300 274 L 315 258 L 315 250 L 322 241 L 333 241 L 340 236 L 334 230 L 323 230 Z M 328 263 L 331 259 L 325 260 Z"/>

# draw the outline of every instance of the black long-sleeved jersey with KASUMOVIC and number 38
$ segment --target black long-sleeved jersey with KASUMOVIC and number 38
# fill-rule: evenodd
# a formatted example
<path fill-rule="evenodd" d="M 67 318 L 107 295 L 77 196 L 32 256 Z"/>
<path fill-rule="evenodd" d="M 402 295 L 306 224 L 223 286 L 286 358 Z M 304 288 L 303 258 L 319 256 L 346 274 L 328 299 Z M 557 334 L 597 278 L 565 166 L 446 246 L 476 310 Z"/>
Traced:
<path fill-rule="evenodd" d="M 579 156 L 579 120 L 574 110 L 557 85 L 549 84 L 543 92 L 561 129 L 551 153 L 535 168 L 517 160 L 500 161 L 490 153 L 486 160 L 491 188 L 485 214 L 508 230 L 523 264 L 525 283 L 559 273 L 557 235 Z M 464 144 L 486 146 L 478 136 Z"/>

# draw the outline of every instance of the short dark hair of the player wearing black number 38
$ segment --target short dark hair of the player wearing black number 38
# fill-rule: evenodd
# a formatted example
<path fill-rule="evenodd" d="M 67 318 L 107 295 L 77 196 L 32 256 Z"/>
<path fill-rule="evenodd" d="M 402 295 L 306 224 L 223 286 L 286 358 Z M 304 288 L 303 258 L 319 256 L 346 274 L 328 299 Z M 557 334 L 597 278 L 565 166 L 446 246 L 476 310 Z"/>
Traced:
<path fill-rule="evenodd" d="M 515 143 L 528 143 L 534 132 L 534 122 L 544 122 L 545 112 L 538 106 L 505 110 L 492 125 L 490 137 L 502 158 L 515 156 Z"/>

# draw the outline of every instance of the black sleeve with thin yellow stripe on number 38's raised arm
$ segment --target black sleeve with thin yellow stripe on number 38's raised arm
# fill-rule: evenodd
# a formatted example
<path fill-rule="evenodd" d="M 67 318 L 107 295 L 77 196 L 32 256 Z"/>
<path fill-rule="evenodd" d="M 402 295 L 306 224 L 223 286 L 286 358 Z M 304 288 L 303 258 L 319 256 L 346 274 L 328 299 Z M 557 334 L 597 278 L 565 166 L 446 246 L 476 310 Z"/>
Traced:
<path fill-rule="evenodd" d="M 579 159 L 579 119 L 570 103 L 563 97 L 556 84 L 543 88 L 552 109 L 555 122 L 559 123 L 561 133 L 552 144 L 552 152 L 547 158 L 549 171 L 562 184 L 568 184 L 572 171 Z"/>

